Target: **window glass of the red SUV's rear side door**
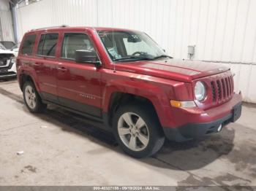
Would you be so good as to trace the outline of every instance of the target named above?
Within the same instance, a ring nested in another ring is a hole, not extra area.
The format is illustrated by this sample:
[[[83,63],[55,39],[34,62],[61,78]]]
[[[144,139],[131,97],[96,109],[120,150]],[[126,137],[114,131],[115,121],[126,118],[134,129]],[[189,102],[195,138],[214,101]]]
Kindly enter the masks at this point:
[[[55,56],[59,34],[42,34],[39,40],[37,55]]]

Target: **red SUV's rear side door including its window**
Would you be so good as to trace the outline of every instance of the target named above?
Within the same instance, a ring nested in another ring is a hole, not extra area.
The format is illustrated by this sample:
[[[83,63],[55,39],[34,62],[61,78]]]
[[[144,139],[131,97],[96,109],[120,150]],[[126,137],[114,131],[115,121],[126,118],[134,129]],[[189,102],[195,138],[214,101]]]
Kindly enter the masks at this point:
[[[37,73],[37,81],[42,98],[57,102],[56,49],[58,47],[59,33],[47,33],[39,36],[36,55],[31,59],[31,65]]]

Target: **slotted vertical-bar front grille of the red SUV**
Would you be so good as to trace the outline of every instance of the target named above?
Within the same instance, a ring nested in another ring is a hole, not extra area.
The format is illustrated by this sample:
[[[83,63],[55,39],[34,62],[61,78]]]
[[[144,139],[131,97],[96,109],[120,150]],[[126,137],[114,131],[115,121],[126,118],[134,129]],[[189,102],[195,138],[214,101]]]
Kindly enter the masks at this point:
[[[233,95],[233,76],[220,77],[211,81],[212,101],[222,102]]]

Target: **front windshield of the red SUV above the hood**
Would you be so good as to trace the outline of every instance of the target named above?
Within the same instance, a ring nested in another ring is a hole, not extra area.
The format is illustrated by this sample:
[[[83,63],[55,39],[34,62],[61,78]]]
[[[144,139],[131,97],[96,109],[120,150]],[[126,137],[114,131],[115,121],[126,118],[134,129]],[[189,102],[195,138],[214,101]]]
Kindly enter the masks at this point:
[[[97,32],[113,61],[169,57],[147,34],[135,31]]]

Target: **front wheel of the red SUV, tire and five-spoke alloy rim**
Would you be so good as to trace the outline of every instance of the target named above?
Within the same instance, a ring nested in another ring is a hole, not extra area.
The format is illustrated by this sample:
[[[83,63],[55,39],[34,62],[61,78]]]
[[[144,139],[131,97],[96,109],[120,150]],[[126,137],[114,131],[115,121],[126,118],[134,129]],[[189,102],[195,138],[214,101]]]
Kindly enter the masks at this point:
[[[140,103],[119,107],[113,119],[113,133],[124,152],[136,158],[156,154],[165,142],[156,112]]]

